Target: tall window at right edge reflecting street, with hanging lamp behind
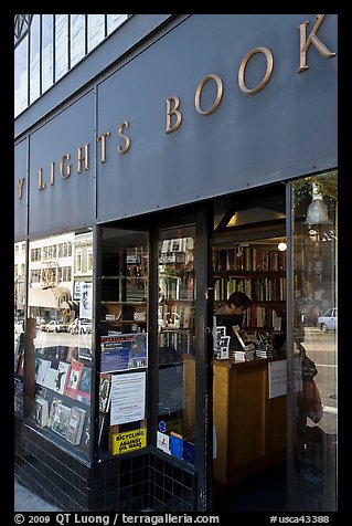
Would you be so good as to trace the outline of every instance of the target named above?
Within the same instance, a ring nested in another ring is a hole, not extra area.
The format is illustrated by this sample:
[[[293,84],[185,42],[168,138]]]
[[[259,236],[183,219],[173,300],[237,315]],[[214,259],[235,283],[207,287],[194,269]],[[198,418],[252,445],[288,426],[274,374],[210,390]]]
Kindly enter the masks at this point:
[[[337,511],[338,171],[291,183],[292,401],[290,508]]]

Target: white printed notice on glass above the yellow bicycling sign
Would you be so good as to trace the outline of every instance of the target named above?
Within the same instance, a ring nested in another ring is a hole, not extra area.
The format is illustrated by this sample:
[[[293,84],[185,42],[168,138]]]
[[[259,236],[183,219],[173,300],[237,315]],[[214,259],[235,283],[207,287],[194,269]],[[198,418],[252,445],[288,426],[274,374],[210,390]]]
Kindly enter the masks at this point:
[[[146,371],[111,375],[110,425],[146,415]]]

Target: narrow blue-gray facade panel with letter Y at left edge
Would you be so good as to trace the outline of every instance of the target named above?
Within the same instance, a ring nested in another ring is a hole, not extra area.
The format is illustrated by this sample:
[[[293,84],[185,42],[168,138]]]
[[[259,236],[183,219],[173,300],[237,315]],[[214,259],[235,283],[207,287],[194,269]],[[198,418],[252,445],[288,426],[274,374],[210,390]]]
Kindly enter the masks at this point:
[[[14,147],[14,241],[23,241],[26,235],[26,156],[28,139],[24,139]],[[19,199],[19,180],[22,178],[24,178],[22,198]]]

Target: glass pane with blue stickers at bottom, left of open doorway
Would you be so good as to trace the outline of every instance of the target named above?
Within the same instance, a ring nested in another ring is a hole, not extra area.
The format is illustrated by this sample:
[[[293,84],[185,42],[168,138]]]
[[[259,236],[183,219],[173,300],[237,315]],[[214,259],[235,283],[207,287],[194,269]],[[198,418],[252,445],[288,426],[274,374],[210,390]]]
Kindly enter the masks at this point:
[[[157,446],[194,464],[195,228],[159,231]]]

